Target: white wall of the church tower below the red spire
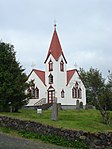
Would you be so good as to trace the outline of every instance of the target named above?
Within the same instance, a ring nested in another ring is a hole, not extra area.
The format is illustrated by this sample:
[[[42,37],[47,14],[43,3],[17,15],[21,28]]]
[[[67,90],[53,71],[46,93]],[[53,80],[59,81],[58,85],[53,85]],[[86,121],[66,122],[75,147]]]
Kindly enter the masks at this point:
[[[49,61],[50,59],[53,62],[53,71],[49,71]],[[60,62],[61,60],[63,60],[64,62],[64,72],[60,71]],[[62,89],[65,92],[65,88],[66,88],[66,80],[67,80],[67,75],[66,75],[66,63],[63,59],[63,56],[61,55],[59,60],[56,61],[54,59],[54,57],[52,55],[49,56],[46,64],[46,73],[45,73],[45,80],[46,80],[46,85],[47,85],[47,89],[49,88],[50,84],[49,84],[49,75],[50,73],[53,75],[53,84],[52,86],[55,89],[55,97],[57,97],[57,102],[61,101],[61,91]],[[62,98],[63,100],[63,98]]]

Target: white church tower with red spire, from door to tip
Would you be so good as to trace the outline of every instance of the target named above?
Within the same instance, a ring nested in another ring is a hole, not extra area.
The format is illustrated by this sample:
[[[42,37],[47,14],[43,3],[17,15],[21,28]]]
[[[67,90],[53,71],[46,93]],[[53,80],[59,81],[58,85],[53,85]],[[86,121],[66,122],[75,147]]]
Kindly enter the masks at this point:
[[[45,60],[45,82],[47,86],[47,99],[48,102],[53,102],[55,98],[58,100],[65,98],[66,88],[66,64],[67,61],[62,51],[62,47],[54,25],[54,33]]]

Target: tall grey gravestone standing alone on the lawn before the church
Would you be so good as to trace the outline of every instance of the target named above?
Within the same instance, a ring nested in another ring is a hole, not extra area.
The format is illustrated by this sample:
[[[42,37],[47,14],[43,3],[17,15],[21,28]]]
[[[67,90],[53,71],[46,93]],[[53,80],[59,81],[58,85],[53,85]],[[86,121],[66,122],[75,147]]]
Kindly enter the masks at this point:
[[[56,99],[54,100],[52,105],[51,120],[52,121],[58,120],[58,104]]]

